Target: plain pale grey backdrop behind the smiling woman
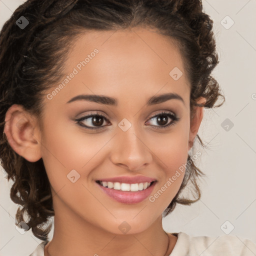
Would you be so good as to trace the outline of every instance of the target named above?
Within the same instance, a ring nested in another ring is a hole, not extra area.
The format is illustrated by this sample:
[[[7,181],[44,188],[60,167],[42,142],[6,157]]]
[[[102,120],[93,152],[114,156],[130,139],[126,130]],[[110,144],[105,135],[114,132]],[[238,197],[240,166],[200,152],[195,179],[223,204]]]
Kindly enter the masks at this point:
[[[0,27],[22,2],[0,0]],[[191,206],[177,204],[163,218],[163,227],[194,236],[228,233],[237,242],[241,237],[256,242],[256,1],[202,2],[214,21],[220,63],[213,76],[226,102],[204,110],[198,132],[209,148],[197,146],[202,155],[196,163],[207,175],[200,183],[201,199]],[[12,183],[4,176],[0,169],[0,255],[29,255],[41,240],[31,230],[21,234],[15,229],[17,206],[9,198]]]

